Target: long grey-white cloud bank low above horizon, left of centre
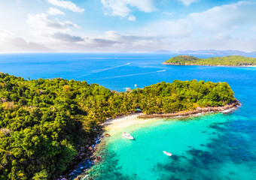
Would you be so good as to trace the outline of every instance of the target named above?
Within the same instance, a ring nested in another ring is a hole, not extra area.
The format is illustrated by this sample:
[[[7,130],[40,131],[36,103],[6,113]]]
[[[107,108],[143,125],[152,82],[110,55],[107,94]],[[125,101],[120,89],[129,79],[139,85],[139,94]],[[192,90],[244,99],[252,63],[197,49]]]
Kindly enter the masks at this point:
[[[106,31],[105,35],[99,37],[80,37],[68,33],[53,34],[53,38],[61,40],[57,48],[69,49],[73,51],[138,51],[152,48],[157,39],[148,36],[136,36],[130,34],[118,34],[116,31]]]

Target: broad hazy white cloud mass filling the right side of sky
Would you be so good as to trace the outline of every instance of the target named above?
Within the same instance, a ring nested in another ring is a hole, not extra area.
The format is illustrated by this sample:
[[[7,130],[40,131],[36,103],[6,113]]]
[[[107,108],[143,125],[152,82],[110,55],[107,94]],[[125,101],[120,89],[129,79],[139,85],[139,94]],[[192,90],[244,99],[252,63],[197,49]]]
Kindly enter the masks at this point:
[[[255,46],[252,45],[255,42],[251,37],[254,37],[256,25],[255,9],[255,1],[239,1],[200,13],[190,13],[178,20],[157,20],[137,33],[155,37],[154,41],[159,42],[155,43],[155,47],[161,49],[254,51]]]

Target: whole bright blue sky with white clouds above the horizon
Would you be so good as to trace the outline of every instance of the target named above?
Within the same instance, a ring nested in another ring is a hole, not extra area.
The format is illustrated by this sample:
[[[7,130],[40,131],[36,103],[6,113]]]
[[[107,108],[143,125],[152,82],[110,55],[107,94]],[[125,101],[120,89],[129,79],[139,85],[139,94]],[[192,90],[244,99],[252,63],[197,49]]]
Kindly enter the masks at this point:
[[[256,0],[0,0],[0,52],[256,51]]]

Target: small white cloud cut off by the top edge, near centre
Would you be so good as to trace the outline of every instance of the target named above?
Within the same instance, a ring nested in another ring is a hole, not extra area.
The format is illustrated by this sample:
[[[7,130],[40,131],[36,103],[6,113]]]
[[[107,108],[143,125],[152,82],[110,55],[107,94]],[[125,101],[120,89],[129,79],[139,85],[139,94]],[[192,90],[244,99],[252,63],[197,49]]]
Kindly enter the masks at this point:
[[[154,0],[101,0],[105,15],[127,17],[128,20],[136,20],[131,14],[131,7],[136,7],[145,13],[155,10]]]

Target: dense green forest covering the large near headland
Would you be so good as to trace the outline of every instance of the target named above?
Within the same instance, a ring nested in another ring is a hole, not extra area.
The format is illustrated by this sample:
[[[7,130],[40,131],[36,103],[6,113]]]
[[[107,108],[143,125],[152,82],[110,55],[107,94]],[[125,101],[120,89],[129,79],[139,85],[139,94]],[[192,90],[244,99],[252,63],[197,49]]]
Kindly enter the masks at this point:
[[[106,118],[174,113],[233,101],[227,83],[157,83],[111,92],[85,81],[24,80],[0,74],[0,179],[53,179]]]

